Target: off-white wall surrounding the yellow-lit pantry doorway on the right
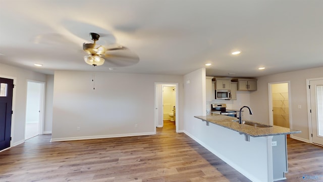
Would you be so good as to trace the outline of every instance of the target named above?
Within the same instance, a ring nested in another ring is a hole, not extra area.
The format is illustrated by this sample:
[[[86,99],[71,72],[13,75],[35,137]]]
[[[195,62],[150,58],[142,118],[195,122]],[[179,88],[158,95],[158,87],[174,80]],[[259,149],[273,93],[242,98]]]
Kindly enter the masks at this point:
[[[323,76],[323,67],[292,71],[268,76],[258,77],[257,90],[250,92],[250,106],[253,109],[251,119],[254,121],[269,123],[268,109],[268,83],[290,81],[291,88],[291,128],[301,130],[299,134],[294,134],[303,141],[309,141],[308,120],[307,120],[307,96],[306,79]],[[298,105],[301,108],[298,108]]]

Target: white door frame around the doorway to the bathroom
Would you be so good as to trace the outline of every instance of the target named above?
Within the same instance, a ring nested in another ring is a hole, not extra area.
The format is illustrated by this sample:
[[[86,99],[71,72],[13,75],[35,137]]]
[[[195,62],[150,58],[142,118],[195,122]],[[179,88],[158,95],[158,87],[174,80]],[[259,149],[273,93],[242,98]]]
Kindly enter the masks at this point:
[[[158,85],[160,85],[160,88],[158,88]],[[154,114],[155,114],[155,119],[154,119],[154,133],[156,134],[156,127],[158,125],[158,119],[160,118],[159,113],[163,114],[163,86],[174,86],[176,89],[176,103],[175,103],[175,108],[176,108],[176,115],[175,115],[175,125],[176,125],[176,132],[179,132],[179,90],[178,90],[178,83],[164,83],[164,82],[155,82],[155,108],[154,108]],[[158,108],[161,108],[159,110]],[[163,120],[163,117],[161,117]]]

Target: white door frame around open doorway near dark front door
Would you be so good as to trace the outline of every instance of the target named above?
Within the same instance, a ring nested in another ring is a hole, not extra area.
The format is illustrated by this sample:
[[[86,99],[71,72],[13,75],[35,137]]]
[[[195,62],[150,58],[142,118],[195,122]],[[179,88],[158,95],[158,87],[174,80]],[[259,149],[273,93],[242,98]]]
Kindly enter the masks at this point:
[[[43,81],[36,81],[36,80],[30,80],[27,79],[27,91],[26,91],[26,110],[27,110],[27,96],[28,96],[28,82],[34,82],[34,83],[40,83],[41,84],[41,88],[40,88],[40,96],[39,96],[39,109],[40,109],[40,113],[39,113],[39,124],[38,124],[38,131],[39,134],[43,134],[44,133],[44,117],[45,117],[45,88],[46,88],[46,82]],[[27,112],[27,111],[25,111]],[[25,113],[27,114],[27,113]],[[25,118],[25,130],[24,133],[26,133],[26,118]]]

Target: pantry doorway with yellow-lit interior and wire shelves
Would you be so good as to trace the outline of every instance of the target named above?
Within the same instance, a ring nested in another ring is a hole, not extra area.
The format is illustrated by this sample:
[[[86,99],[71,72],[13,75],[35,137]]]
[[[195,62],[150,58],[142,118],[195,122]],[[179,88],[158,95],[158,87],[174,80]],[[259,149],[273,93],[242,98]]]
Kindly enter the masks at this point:
[[[269,83],[270,124],[290,128],[289,82]]]

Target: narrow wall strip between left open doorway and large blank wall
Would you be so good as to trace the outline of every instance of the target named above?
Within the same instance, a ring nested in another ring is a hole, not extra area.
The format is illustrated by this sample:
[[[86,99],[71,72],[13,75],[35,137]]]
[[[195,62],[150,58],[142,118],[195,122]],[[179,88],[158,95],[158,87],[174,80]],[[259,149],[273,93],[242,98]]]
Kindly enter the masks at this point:
[[[44,133],[51,133],[54,75],[46,75]]]

